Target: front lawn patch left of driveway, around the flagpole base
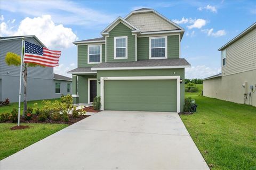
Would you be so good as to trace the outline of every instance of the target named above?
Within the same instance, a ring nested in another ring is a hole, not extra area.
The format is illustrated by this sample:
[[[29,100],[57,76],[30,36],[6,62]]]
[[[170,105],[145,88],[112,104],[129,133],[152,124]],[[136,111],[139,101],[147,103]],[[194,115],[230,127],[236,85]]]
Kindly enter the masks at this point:
[[[0,123],[0,160],[26,148],[45,137],[66,128],[67,124],[22,124],[29,129],[10,130],[17,124]]]

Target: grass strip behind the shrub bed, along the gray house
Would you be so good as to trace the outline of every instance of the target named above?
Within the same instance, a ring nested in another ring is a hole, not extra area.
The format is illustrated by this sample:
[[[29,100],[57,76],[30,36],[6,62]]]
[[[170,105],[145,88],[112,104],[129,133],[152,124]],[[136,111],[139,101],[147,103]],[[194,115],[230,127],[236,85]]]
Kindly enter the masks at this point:
[[[60,98],[57,98],[57,99],[45,99],[45,100],[50,100],[50,101],[55,101],[55,100],[60,100]],[[32,107],[32,108],[34,108],[34,103],[37,103],[38,105],[37,105],[37,107],[38,108],[41,108],[42,106],[43,106],[43,104],[42,104],[42,101],[43,100],[33,100],[33,101],[28,101],[27,102],[27,107]],[[21,110],[21,114],[22,114],[22,112],[23,112],[23,102],[21,102],[21,104],[20,104],[20,110]],[[13,107],[15,107],[15,108],[17,108],[18,109],[18,107],[19,107],[19,103],[17,102],[17,103],[11,103],[10,105],[8,105],[8,106],[2,106],[2,107],[0,107],[0,114],[1,113],[6,113],[6,112],[11,112],[11,109],[13,108]]]

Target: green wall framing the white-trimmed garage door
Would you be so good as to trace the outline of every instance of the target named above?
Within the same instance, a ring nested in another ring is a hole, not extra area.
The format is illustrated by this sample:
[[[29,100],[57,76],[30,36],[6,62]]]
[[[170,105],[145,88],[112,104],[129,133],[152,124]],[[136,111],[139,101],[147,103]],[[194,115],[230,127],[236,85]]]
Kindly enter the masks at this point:
[[[173,74],[175,72],[175,74]],[[174,76],[179,75],[185,79],[185,69],[154,69],[154,70],[109,70],[97,71],[97,80],[101,77],[134,77],[134,76]],[[97,83],[97,96],[100,96],[100,84]],[[180,84],[180,109],[183,110],[185,97],[185,84]]]

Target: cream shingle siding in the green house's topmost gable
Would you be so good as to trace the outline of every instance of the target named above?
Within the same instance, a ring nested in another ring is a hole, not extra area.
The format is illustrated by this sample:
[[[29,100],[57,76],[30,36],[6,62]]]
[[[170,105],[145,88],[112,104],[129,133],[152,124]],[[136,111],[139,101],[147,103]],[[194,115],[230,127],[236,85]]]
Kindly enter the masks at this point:
[[[141,25],[141,19],[145,20],[145,25]],[[175,27],[173,24],[165,21],[154,13],[133,14],[127,19],[127,21],[140,29],[141,32],[177,29],[177,27]]]

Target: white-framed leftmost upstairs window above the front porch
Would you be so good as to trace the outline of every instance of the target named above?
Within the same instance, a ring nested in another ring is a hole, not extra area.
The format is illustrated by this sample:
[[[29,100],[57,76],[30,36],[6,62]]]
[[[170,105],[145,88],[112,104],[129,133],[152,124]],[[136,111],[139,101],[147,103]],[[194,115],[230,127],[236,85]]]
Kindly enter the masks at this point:
[[[101,45],[88,46],[88,64],[101,63]]]

